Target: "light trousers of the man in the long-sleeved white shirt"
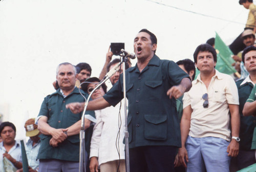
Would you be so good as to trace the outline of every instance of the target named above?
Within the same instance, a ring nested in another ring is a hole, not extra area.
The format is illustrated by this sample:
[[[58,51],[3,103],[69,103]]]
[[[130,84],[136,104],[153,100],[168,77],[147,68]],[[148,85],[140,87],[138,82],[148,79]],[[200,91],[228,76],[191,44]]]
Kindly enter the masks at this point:
[[[119,160],[109,161],[100,164],[100,172],[116,172],[118,164]],[[120,160],[118,172],[125,172],[125,160]]]

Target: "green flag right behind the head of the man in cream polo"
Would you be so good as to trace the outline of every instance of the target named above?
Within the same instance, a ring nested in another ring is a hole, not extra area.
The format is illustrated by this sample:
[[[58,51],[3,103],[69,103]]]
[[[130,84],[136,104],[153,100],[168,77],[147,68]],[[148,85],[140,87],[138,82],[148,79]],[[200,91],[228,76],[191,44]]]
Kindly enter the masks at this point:
[[[223,40],[220,38],[218,33],[216,32],[215,37],[215,49],[217,52],[217,63],[216,63],[216,69],[225,74],[233,74],[236,73],[236,69],[232,67],[232,63],[235,62],[232,58],[233,53],[231,50],[225,45]]]

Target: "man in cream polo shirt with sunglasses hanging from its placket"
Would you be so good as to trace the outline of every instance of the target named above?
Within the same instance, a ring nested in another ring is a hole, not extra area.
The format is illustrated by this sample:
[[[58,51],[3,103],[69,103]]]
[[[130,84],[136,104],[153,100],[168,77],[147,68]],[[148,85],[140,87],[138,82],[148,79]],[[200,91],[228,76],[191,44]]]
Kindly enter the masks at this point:
[[[183,97],[179,161],[188,172],[229,171],[230,157],[239,152],[238,89],[231,76],[215,69],[210,45],[198,46],[194,60],[200,74]]]

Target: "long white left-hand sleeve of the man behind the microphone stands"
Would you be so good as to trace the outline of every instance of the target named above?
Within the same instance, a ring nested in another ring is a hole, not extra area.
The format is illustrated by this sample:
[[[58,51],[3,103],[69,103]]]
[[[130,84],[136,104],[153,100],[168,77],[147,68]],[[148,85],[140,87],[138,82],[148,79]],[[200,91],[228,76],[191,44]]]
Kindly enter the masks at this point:
[[[96,111],[95,115],[96,115],[97,121],[93,128],[93,135],[92,135],[91,147],[90,147],[90,158],[98,157],[100,137],[101,137],[101,132],[102,132],[102,128],[103,128],[101,111]]]

